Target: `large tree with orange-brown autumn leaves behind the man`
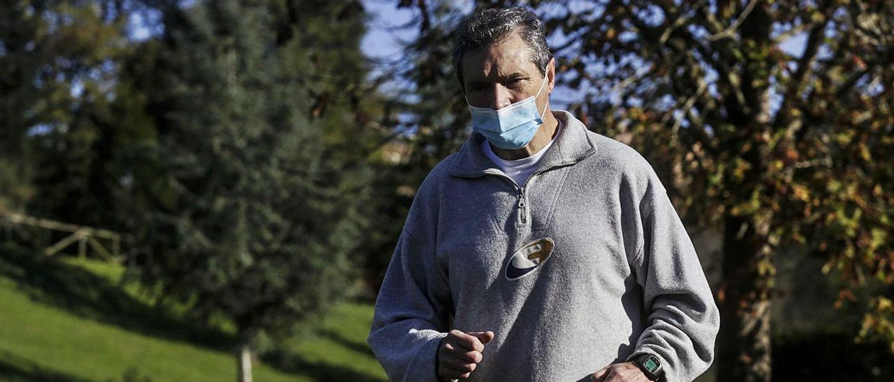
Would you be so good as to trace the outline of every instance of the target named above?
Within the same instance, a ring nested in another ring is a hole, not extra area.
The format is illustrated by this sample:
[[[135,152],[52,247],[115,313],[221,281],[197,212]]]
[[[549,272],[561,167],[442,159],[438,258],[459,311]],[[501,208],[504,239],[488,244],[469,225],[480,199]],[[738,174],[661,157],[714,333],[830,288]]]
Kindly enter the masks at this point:
[[[827,256],[851,281],[842,298],[875,291],[860,334],[894,346],[890,2],[526,4],[558,41],[560,84],[582,94],[572,112],[645,154],[688,222],[722,227],[719,380],[771,378],[780,245]],[[420,41],[453,28],[417,8]],[[780,47],[793,37],[800,54]]]

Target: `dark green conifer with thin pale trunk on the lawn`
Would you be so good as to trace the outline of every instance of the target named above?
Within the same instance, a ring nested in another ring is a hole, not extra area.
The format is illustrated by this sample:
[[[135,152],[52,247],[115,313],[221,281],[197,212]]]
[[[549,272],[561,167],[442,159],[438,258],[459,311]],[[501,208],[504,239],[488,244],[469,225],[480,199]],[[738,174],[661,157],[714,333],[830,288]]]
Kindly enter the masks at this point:
[[[164,7],[132,264],[198,320],[232,322],[243,381],[265,338],[350,291],[369,174],[346,161],[367,133],[338,92],[364,78],[362,16],[314,1]]]

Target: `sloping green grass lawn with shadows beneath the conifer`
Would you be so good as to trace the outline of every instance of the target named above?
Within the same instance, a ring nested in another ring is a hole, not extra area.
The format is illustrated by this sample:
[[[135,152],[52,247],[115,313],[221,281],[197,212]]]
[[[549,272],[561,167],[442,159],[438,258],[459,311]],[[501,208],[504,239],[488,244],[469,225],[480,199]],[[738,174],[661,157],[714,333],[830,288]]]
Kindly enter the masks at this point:
[[[137,286],[119,286],[122,272],[0,245],[0,380],[235,380],[229,335],[153,307]],[[370,304],[337,306],[257,361],[255,380],[385,380],[365,342],[371,320]]]

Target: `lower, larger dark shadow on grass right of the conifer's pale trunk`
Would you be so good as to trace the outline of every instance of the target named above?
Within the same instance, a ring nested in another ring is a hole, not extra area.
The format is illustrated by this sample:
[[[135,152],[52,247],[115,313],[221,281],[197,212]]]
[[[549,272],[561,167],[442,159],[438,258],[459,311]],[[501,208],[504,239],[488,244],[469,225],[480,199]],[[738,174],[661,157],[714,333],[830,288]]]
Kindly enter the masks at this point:
[[[308,376],[318,381],[383,382],[382,379],[356,370],[326,363],[308,362],[301,358],[300,355],[291,352],[273,351],[262,355],[260,358],[266,365],[276,370]]]

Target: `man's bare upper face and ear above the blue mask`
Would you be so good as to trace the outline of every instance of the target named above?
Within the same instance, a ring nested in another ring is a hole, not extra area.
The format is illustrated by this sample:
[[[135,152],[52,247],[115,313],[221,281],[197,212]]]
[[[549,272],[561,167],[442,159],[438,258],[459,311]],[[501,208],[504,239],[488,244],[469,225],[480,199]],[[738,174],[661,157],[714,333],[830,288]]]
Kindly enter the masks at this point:
[[[552,92],[553,67],[547,66],[547,79],[530,58],[530,48],[518,33],[484,48],[468,51],[462,57],[463,86],[468,104],[502,109],[537,94],[537,109],[543,110]],[[547,81],[544,84],[544,80]]]

